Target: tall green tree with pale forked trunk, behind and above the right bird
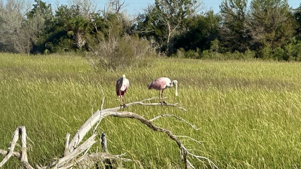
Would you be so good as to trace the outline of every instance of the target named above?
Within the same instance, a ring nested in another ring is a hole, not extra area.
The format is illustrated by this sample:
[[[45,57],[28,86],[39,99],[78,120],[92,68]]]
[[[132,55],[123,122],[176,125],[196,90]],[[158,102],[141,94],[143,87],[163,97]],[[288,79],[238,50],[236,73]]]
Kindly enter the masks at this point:
[[[174,37],[182,33],[187,19],[199,6],[195,0],[155,0],[155,5],[146,9],[145,18],[140,19],[140,36],[154,37],[161,45],[161,52],[171,54]]]

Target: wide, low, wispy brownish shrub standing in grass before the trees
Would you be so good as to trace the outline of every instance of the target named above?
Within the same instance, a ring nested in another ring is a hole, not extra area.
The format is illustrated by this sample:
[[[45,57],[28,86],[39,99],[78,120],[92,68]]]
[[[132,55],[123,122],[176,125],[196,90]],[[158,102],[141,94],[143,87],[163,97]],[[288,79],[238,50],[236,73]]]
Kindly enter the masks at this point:
[[[124,36],[115,44],[111,41],[101,41],[90,46],[87,57],[96,69],[117,70],[149,64],[145,62],[152,53],[147,40],[137,36]]]

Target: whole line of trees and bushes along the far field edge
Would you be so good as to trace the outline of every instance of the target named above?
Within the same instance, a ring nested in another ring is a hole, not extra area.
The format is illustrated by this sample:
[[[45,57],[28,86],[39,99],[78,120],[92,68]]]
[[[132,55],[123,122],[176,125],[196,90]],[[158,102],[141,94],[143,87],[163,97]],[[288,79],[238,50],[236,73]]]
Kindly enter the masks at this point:
[[[287,0],[223,0],[218,13],[202,8],[198,0],[155,0],[131,17],[120,0],[109,0],[102,10],[92,0],[72,0],[55,10],[42,0],[1,0],[0,50],[86,52],[103,65],[119,60],[117,55],[134,54],[133,61],[151,51],[200,59],[301,60],[301,4],[294,9]]]

